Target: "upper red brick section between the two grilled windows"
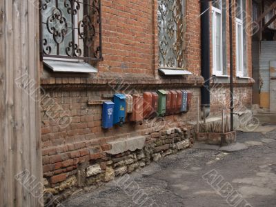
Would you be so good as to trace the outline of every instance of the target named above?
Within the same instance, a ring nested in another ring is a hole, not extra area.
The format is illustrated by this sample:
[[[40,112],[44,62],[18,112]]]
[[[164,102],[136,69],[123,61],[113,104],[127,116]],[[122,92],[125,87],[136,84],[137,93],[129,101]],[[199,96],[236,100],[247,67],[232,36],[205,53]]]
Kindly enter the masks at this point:
[[[101,2],[104,61],[99,72],[152,74],[152,1]]]

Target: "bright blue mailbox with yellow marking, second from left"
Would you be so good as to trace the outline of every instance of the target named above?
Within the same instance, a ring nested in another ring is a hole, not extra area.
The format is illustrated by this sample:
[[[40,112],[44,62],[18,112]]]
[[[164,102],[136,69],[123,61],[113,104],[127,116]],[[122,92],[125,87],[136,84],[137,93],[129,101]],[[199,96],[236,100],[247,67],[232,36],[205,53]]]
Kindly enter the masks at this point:
[[[114,95],[114,119],[113,124],[119,124],[120,126],[126,121],[126,95],[115,94]]]

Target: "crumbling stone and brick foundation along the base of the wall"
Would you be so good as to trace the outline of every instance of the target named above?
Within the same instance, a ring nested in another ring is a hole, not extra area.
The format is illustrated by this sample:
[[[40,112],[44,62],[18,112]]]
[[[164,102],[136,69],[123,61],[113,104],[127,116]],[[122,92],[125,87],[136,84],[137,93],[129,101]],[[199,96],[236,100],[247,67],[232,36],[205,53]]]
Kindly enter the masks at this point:
[[[135,149],[132,146],[129,149],[125,148],[124,144],[128,139],[121,139],[117,141],[117,150],[118,143],[121,143],[123,145],[121,150],[127,151],[115,155],[115,150],[112,150],[114,143],[106,144],[99,152],[92,146],[85,150],[81,149],[81,152],[69,152],[68,156],[72,157],[72,163],[71,161],[67,161],[68,164],[63,161],[60,164],[58,162],[55,164],[57,167],[61,166],[58,171],[44,173],[45,202],[47,203],[47,199],[51,196],[57,196],[55,202],[59,202],[78,189],[99,186],[104,182],[112,181],[115,177],[143,168],[151,161],[158,161],[179,150],[190,148],[193,146],[194,132],[193,126],[151,132],[137,138],[145,140],[144,147],[141,149]],[[136,143],[137,139],[134,139]],[[81,154],[83,156],[78,157]],[[75,164],[77,161],[79,161],[78,164]],[[55,175],[57,172],[59,174]]]

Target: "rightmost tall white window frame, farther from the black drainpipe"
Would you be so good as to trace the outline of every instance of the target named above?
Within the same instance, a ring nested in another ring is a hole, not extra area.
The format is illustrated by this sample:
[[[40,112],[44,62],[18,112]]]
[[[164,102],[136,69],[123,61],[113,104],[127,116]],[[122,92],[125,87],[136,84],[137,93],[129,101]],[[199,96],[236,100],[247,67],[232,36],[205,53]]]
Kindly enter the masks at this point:
[[[242,19],[239,19],[239,18],[235,18],[235,31],[236,31],[236,74],[237,74],[237,77],[244,77],[244,8],[243,8],[243,2],[244,0],[241,0],[241,10],[242,10]],[[241,32],[240,32],[240,36],[238,37],[238,28],[239,26],[241,26]],[[237,42],[238,40],[240,39],[240,43],[241,43],[241,48],[242,50],[239,51],[239,54],[238,54],[238,50],[237,50]],[[241,61],[241,65],[242,65],[242,68],[239,68],[239,61]]]

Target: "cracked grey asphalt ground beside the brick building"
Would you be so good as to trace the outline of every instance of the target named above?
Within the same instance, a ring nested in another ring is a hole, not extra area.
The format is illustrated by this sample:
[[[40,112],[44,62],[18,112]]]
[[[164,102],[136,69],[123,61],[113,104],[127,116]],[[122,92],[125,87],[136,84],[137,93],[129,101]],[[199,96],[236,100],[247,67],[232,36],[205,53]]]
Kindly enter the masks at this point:
[[[72,195],[63,206],[276,206],[276,132],[239,132],[248,148],[190,148],[99,188]]]

